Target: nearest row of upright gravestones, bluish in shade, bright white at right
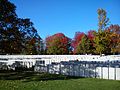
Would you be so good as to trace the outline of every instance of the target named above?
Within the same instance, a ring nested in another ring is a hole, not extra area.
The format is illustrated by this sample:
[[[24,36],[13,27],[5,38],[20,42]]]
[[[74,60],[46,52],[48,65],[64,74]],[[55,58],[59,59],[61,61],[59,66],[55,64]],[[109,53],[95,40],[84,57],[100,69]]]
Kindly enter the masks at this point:
[[[54,74],[120,80],[120,62],[63,61],[43,68]]]

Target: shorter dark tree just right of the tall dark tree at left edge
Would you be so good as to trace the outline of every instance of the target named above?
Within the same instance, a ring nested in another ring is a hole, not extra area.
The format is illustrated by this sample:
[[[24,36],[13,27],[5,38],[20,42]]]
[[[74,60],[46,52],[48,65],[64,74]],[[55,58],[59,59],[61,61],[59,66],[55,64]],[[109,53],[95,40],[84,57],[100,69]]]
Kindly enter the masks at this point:
[[[41,38],[30,19],[18,19],[18,28],[22,37],[24,54],[40,54]]]

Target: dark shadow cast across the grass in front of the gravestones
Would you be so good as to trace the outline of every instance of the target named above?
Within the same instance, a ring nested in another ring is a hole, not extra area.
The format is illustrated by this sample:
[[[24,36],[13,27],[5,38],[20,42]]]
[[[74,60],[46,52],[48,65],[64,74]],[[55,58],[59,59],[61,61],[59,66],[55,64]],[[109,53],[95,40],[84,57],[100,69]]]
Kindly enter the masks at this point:
[[[66,76],[61,74],[48,74],[33,71],[4,71],[0,72],[0,80],[22,80],[23,82],[30,81],[48,81],[48,80],[68,80],[79,79],[84,77]]]

